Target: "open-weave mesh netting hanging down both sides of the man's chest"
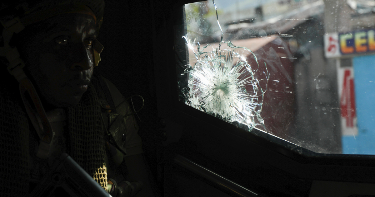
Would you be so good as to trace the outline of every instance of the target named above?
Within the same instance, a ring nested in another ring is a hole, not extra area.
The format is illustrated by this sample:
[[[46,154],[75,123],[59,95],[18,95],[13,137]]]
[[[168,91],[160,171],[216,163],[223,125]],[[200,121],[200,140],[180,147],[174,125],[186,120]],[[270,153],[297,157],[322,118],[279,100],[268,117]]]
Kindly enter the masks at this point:
[[[66,114],[69,154],[107,190],[101,109],[93,85],[89,85],[80,103],[69,107]],[[0,91],[0,196],[18,197],[28,192],[30,131],[27,119],[20,102],[12,94]]]

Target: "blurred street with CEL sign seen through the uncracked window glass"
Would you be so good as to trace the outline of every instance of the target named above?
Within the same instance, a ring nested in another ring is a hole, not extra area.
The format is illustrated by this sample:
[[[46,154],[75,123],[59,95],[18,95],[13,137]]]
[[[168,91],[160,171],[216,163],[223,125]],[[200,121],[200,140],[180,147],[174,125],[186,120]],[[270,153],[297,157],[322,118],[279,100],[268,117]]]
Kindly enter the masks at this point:
[[[236,49],[266,79],[256,128],[317,153],[375,154],[374,1],[214,2],[218,20],[213,1],[185,5],[187,33],[203,51],[229,49],[223,32],[253,52]]]

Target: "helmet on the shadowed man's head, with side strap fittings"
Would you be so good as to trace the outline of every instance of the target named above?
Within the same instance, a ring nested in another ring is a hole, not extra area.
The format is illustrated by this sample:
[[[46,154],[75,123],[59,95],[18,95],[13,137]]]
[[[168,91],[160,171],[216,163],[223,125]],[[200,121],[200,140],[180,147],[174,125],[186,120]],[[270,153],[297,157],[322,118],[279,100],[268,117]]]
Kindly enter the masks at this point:
[[[16,0],[7,4],[0,4],[0,22],[3,25],[0,35],[0,57],[6,57],[9,65],[8,71],[18,81],[26,78],[22,68],[25,66],[20,59],[16,47],[9,46],[9,41],[14,33],[22,31],[25,26],[42,21],[62,13],[87,13],[96,19],[96,29],[99,31],[103,22],[103,0]],[[95,66],[100,61],[103,46],[96,41],[93,43]]]

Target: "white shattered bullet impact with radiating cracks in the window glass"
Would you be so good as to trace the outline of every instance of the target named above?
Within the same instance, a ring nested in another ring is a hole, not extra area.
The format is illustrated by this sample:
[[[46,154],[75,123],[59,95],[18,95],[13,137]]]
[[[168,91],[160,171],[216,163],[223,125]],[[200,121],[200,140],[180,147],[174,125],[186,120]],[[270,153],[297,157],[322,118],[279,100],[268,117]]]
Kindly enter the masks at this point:
[[[268,133],[261,117],[264,93],[270,76],[267,65],[264,65],[267,73],[263,71],[265,78],[258,80],[255,77],[260,66],[257,57],[245,47],[223,41],[224,33],[214,0],[213,4],[221,31],[219,47],[215,49],[210,44],[201,47],[199,42],[190,39],[189,33],[183,36],[196,59],[196,63],[186,65],[187,68],[181,74],[188,75],[188,88],[183,91],[185,103],[223,121],[247,125],[249,131],[260,125]],[[222,43],[227,45],[227,49],[220,49]],[[212,51],[204,51],[208,46],[212,47]],[[247,56],[255,59],[256,69],[248,63]],[[265,87],[261,87],[261,80],[266,80],[263,83]]]

